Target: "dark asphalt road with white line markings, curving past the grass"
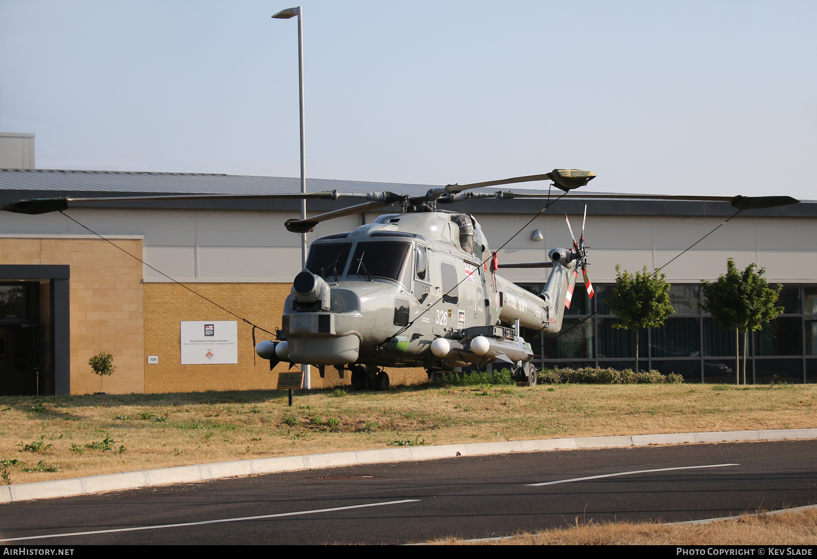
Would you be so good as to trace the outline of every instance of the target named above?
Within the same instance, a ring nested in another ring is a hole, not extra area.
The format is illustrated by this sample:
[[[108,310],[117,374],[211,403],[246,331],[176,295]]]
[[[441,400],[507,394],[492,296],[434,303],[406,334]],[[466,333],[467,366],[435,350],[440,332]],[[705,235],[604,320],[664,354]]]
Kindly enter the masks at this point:
[[[412,543],[812,503],[817,440],[742,442],[462,456],[23,501],[0,508],[0,537],[60,547]]]

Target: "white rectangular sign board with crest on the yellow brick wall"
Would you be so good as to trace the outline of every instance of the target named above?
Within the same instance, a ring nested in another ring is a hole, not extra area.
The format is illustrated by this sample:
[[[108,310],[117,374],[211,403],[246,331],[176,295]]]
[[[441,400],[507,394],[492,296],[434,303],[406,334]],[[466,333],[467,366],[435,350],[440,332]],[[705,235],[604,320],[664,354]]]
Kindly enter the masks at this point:
[[[239,324],[235,320],[181,323],[181,364],[239,362]]]

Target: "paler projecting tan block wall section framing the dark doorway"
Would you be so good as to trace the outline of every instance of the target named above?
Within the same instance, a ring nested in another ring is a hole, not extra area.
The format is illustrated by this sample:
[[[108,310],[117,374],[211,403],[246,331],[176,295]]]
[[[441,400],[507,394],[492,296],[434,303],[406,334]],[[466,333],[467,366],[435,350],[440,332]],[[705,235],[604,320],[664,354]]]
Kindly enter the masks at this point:
[[[142,257],[141,239],[112,239]],[[0,238],[2,264],[71,266],[71,392],[99,390],[88,359],[99,351],[114,356],[116,372],[105,391],[145,391],[142,265],[102,239]]]

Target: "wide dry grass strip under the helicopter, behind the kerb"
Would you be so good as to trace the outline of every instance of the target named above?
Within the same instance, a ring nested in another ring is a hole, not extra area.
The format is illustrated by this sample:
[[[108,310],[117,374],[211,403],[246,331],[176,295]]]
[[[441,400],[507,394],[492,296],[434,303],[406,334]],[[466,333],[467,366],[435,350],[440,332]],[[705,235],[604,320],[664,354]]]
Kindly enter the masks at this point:
[[[297,394],[292,408],[283,391],[6,396],[0,460],[25,464],[0,465],[0,474],[23,483],[423,442],[817,427],[817,385],[409,386],[344,394]],[[40,436],[50,448],[24,450]],[[110,450],[87,448],[106,436],[115,441]],[[60,472],[23,471],[40,460]]]

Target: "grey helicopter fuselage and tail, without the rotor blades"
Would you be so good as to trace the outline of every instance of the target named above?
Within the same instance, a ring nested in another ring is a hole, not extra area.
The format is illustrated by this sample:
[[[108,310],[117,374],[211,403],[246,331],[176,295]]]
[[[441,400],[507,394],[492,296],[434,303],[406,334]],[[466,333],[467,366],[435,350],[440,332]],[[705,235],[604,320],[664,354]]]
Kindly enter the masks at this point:
[[[558,333],[574,260],[550,251],[546,288],[496,274],[476,220],[461,212],[386,214],[316,239],[284,302],[276,355],[292,363],[425,367],[533,358],[511,325]],[[503,325],[505,324],[505,325]],[[438,340],[443,340],[442,342]]]

